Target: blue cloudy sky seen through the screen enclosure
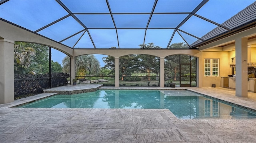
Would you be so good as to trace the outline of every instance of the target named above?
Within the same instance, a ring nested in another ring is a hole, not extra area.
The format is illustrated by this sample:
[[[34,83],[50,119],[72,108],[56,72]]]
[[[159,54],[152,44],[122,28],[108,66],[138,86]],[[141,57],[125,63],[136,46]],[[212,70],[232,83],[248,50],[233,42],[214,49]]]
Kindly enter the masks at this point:
[[[105,0],[61,0],[72,12],[107,12],[109,13]],[[222,24],[246,6],[252,4],[255,0],[209,0],[200,10],[196,12],[199,16],[203,16],[218,24]],[[132,0],[109,0],[112,13],[118,12],[151,12],[154,0],[138,0],[136,4]],[[158,0],[154,12],[191,12],[200,4],[202,0]],[[143,8],[142,8],[143,7]],[[54,12],[52,12],[54,10]],[[45,25],[68,15],[62,6],[55,0],[9,0],[0,5],[0,17],[14,24],[20,25],[31,31],[60,41],[62,44],[74,48],[94,49],[97,48],[118,47],[117,35],[120,48],[140,48],[143,44],[144,34],[145,44],[154,43],[154,45],[162,48],[168,47],[170,37],[174,29],[166,29],[166,27],[176,27],[188,14],[154,14],[148,25],[149,28],[165,28],[165,29],[93,29],[93,28],[113,28],[114,24],[109,14],[75,14],[78,19],[89,29],[89,33],[83,30],[80,25],[71,16],[50,25],[44,29],[40,29]],[[124,28],[144,28],[148,23],[150,14],[114,14],[116,27]],[[28,20],[29,19],[29,20]],[[72,25],[72,26],[71,26]],[[196,37],[202,37],[216,25],[206,22],[196,16],[192,16],[184,23],[180,30],[186,31]],[[92,28],[92,29],[91,29]],[[40,29],[40,30],[39,30]],[[180,34],[190,45],[197,39],[180,31]],[[77,35],[64,40],[66,37],[78,33]],[[82,38],[80,39],[80,37]],[[171,41],[172,43],[184,42],[182,37],[176,32]],[[78,41],[80,39],[80,41]],[[78,43],[76,43],[78,41]],[[66,55],[57,50],[52,50],[52,60],[62,63],[62,59]],[[104,66],[102,57],[107,55],[96,55],[101,67]]]

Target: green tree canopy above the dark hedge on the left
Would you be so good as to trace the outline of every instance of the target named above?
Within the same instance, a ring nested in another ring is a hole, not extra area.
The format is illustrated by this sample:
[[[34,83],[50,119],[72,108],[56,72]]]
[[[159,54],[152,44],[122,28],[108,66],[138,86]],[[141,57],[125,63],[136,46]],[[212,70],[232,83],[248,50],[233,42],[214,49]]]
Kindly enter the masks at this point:
[[[52,61],[51,68],[52,72],[62,71],[58,62]],[[49,73],[49,47],[36,43],[15,42],[14,73]]]

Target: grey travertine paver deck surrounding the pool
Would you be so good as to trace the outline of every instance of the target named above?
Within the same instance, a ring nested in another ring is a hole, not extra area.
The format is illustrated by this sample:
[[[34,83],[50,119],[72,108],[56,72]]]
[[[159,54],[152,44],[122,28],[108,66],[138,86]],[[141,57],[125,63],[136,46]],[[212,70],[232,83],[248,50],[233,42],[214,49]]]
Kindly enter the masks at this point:
[[[240,98],[227,88],[184,89],[256,108],[256,93]],[[168,109],[10,108],[54,94],[0,104],[0,143],[256,142],[256,119],[178,119]]]

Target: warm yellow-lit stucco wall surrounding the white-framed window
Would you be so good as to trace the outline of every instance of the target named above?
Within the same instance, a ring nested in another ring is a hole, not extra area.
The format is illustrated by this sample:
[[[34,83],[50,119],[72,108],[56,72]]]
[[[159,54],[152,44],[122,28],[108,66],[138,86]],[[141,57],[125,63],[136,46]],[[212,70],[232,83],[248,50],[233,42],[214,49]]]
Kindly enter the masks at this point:
[[[204,61],[199,65],[202,74],[202,87],[212,87],[215,84],[216,87],[220,87],[220,79],[222,76],[228,76],[229,71],[229,53],[228,52],[203,52],[202,60],[204,59],[220,59],[219,63],[219,76],[204,76]],[[203,68],[202,68],[203,67]]]

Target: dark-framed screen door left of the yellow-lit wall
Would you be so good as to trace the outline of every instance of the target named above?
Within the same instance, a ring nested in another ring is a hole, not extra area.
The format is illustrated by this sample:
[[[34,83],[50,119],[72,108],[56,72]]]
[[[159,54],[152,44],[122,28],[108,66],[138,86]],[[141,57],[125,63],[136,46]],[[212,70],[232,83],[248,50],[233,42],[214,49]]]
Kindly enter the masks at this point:
[[[191,64],[180,64],[180,86],[191,86]]]

